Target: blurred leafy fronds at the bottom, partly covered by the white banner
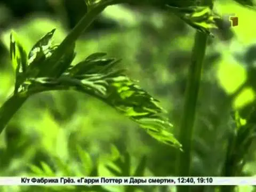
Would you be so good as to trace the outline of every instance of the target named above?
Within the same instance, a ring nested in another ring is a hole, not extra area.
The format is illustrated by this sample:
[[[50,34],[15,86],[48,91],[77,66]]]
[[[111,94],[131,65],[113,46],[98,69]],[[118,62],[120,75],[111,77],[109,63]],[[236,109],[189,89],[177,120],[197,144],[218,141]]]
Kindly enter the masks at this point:
[[[99,161],[92,161],[89,153],[84,151],[82,147],[77,146],[78,154],[78,169],[74,169],[68,162],[63,162],[60,158],[54,157],[53,162],[55,167],[49,166],[45,162],[41,162],[40,166],[29,165],[31,175],[36,177],[56,177],[60,175],[69,175],[73,177],[100,177],[99,175]],[[146,171],[146,157],[142,156],[135,170],[132,171],[131,156],[127,151],[121,153],[114,145],[111,146],[111,154],[108,155],[108,161],[104,162],[104,166],[115,177],[143,177]],[[99,159],[98,159],[99,160]],[[143,186],[125,186],[125,192],[133,192],[136,189],[143,190]],[[103,186],[38,186],[39,191],[97,191],[97,192],[110,192]],[[143,191],[148,191],[143,190]]]

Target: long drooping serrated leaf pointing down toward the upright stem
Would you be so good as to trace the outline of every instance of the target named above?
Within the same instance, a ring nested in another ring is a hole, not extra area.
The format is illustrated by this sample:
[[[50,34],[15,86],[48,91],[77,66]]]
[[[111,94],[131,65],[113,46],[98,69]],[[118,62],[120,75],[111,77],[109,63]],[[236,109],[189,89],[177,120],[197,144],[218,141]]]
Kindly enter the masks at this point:
[[[115,70],[113,66],[116,63],[113,59],[91,57],[87,62],[85,60],[69,68],[59,78],[30,78],[26,83],[30,84],[32,90],[41,85],[50,90],[75,89],[92,95],[131,118],[155,139],[181,148],[173,134],[167,131],[172,124],[163,115],[165,111],[159,106],[159,101],[123,74],[122,70]]]

